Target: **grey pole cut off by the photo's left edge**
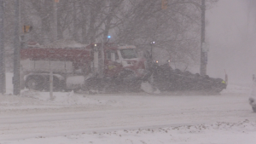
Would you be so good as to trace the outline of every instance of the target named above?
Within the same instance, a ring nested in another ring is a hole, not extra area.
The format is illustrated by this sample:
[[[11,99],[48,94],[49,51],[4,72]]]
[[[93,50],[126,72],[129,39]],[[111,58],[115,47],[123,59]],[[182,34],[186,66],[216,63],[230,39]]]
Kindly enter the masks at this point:
[[[5,62],[4,62],[4,35],[3,35],[3,19],[4,19],[4,8],[3,0],[0,0],[0,92],[5,94]]]

